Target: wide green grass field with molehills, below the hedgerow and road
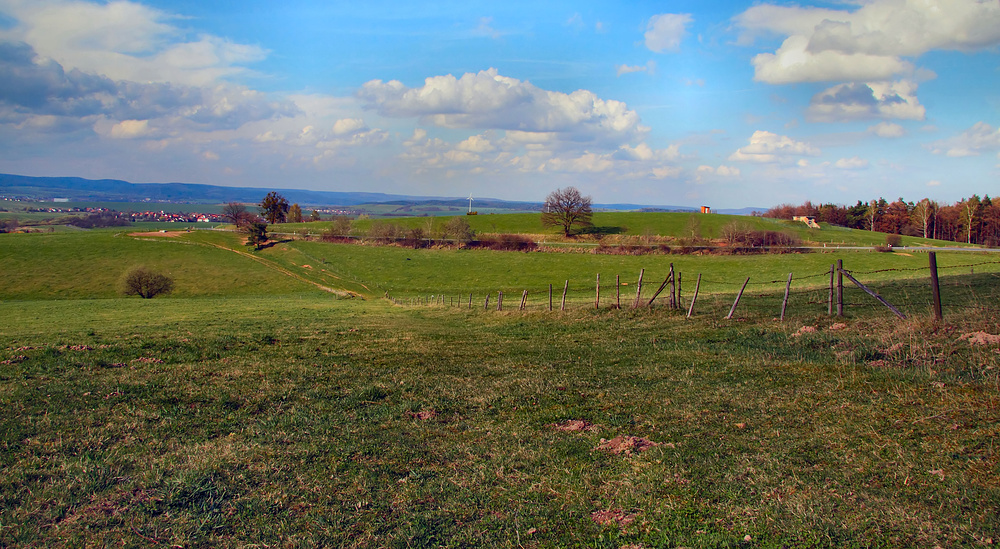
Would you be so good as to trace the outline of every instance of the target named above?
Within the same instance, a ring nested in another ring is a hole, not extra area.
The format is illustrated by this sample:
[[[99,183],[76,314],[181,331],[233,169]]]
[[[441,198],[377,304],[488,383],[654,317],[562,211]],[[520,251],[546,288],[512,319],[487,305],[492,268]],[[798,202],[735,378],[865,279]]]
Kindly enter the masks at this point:
[[[947,307],[933,323],[921,254],[0,238],[0,546],[1000,539],[1000,354],[962,339],[998,331],[1000,269],[963,266],[986,257],[938,254]],[[773,320],[788,272],[836,259],[911,318],[857,290],[846,319],[827,317],[817,277]],[[639,269],[655,287],[671,262],[686,299],[698,273],[717,281],[691,320],[592,308],[596,273],[634,292]],[[118,297],[132,264],[169,273],[175,292]],[[723,320],[746,276],[782,283]],[[481,307],[566,279],[580,289],[565,312]],[[473,292],[477,306],[393,306],[386,292]]]

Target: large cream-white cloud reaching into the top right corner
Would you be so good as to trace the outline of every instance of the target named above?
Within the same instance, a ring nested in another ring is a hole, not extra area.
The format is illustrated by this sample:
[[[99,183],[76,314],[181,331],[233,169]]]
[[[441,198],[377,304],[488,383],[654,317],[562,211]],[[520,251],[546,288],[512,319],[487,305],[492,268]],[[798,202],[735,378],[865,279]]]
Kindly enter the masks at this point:
[[[786,37],[753,58],[754,78],[772,84],[889,80],[913,73],[904,58],[1000,44],[1000,4],[978,0],[869,0],[855,11],[762,4],[735,22],[743,44]]]

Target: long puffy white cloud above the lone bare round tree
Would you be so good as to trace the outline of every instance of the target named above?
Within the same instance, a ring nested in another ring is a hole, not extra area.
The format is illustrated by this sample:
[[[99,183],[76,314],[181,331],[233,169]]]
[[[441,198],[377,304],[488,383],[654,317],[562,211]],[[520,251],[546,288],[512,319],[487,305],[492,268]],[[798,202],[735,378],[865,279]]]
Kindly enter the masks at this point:
[[[604,100],[587,90],[543,90],[496,69],[461,78],[433,76],[419,88],[397,80],[372,80],[357,97],[383,116],[419,117],[445,128],[555,132],[573,141],[605,144],[633,141],[648,131],[621,101]]]

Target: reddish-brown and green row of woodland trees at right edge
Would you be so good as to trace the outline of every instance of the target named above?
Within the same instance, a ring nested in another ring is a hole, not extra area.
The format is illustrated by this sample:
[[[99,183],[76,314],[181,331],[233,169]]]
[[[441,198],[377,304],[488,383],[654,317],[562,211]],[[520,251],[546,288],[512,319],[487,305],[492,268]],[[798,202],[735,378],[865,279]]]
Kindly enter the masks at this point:
[[[796,216],[815,217],[816,221],[888,234],[920,236],[952,242],[1000,245],[1000,198],[972,195],[953,204],[924,198],[907,202],[902,198],[889,202],[885,198],[858,201],[853,206],[813,204],[799,206],[782,204],[763,214],[775,219]]]

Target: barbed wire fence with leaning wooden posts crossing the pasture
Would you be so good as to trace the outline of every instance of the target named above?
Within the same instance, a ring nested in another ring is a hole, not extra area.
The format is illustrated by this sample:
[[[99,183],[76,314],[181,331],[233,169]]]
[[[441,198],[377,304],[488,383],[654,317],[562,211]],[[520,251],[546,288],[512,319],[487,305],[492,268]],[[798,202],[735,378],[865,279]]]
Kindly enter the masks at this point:
[[[961,314],[963,311],[1000,314],[1000,260],[936,268],[945,314]],[[845,316],[892,315],[879,298],[898,308],[904,316],[931,314],[934,300],[930,265],[873,270],[851,270],[845,266],[842,272],[864,287],[844,281],[839,293],[842,296],[840,308]],[[887,273],[903,276],[887,277]],[[727,280],[697,274],[684,276],[680,272],[673,276],[669,273],[659,273],[658,277],[648,273],[640,276],[644,278],[641,283],[638,278],[627,280],[618,275],[595,275],[589,281],[565,280],[521,289],[387,297],[400,306],[494,312],[654,309],[676,310],[684,314],[690,311],[690,316],[708,318],[727,317],[729,313],[736,319],[778,318],[783,311],[800,316],[836,315],[838,310],[838,277],[833,266],[825,272],[792,274],[790,279],[754,280],[753,276],[749,276]]]

